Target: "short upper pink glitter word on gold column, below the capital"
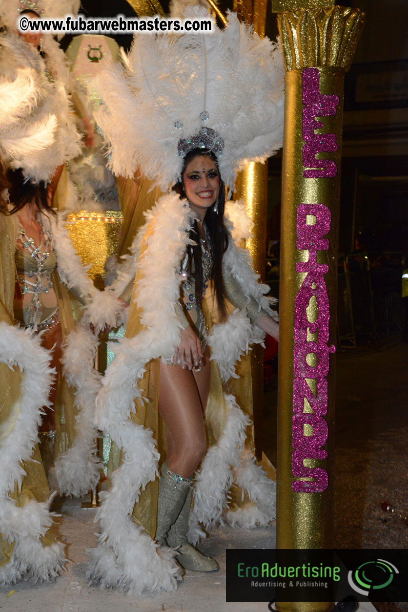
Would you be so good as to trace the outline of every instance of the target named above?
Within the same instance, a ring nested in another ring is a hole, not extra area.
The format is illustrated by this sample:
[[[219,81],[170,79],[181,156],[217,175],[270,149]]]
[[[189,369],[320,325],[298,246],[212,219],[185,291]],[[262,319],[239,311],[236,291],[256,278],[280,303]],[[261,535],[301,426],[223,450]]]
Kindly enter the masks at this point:
[[[303,166],[314,168],[305,170],[305,179],[319,179],[322,177],[336,176],[336,163],[330,159],[316,159],[316,155],[322,152],[337,151],[338,145],[335,134],[316,134],[315,130],[321,130],[322,121],[316,121],[316,117],[327,117],[336,114],[336,106],[339,103],[337,95],[324,95],[320,93],[320,75],[317,68],[305,68],[302,73],[302,136],[305,144],[303,146]]]

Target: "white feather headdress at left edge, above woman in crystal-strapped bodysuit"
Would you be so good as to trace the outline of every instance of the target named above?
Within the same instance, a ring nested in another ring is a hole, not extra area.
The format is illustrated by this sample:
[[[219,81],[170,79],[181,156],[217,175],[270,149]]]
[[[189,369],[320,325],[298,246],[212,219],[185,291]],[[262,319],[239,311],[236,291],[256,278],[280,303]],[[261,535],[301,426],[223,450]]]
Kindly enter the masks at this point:
[[[0,37],[0,52],[2,160],[31,181],[48,181],[81,151],[64,83],[48,81],[37,51],[16,35]]]

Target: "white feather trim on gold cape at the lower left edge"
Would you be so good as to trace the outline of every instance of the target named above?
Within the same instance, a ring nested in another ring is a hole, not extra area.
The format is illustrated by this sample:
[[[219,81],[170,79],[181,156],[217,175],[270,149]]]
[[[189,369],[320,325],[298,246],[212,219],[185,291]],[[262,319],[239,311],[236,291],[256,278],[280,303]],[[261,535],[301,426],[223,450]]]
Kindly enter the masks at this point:
[[[18,507],[9,491],[25,475],[22,462],[32,455],[38,441],[42,406],[48,404],[53,370],[50,356],[41,348],[40,338],[28,331],[0,323],[0,361],[23,372],[20,412],[0,449],[0,532],[15,542],[10,561],[0,567],[0,584],[14,584],[23,578],[50,580],[64,570],[64,545],[43,546],[40,537],[53,523],[48,502],[29,501]],[[50,498],[51,499],[51,498]]]

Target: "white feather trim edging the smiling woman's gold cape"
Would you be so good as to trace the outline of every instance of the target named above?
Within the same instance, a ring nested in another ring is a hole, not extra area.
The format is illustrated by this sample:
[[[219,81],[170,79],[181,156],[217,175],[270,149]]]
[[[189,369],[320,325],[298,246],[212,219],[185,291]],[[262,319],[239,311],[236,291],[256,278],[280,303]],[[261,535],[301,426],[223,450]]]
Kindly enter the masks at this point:
[[[91,560],[87,571],[91,582],[100,584],[101,588],[121,585],[134,595],[145,589],[171,590],[177,586],[178,569],[172,551],[158,547],[130,518],[141,491],[157,474],[158,452],[152,432],[134,424],[129,417],[134,411],[135,398],[141,397],[138,381],[144,374],[145,364],[158,357],[171,357],[180,341],[181,326],[174,311],[174,303],[179,297],[177,266],[189,243],[192,222],[186,201],[180,201],[179,196],[173,194],[163,196],[146,218],[146,225],[132,247],[133,256],[138,259],[146,230],[153,230],[138,260],[142,280],[136,283],[134,294],[145,329],[119,342],[116,357],[106,371],[97,398],[97,426],[121,447],[124,460],[112,475],[112,488],[103,495],[102,506],[95,517],[95,521],[100,521],[101,533],[97,548],[89,551]],[[233,244],[225,259],[227,274],[240,266],[237,280],[241,284],[248,283],[255,297],[263,297],[263,288],[259,288],[248,259]],[[127,273],[133,274],[134,270],[135,264],[129,263]],[[115,291],[120,291],[125,280],[128,277],[119,279]],[[247,291],[249,294],[250,290]],[[250,342],[254,338],[262,341],[262,333],[254,333],[252,328],[245,313],[237,311],[226,323],[212,328],[209,334],[212,359],[217,360],[224,379],[234,375],[236,361],[248,350]],[[257,466],[253,469],[253,463],[241,465],[248,419],[232,395],[226,396],[226,403],[228,417],[223,436],[209,449],[196,476],[195,506],[189,532],[193,542],[205,535],[198,523],[204,528],[214,526],[220,521],[224,507],[228,506],[231,466],[246,473],[250,465],[253,482],[241,479],[250,496],[256,487],[264,487],[265,495],[270,498],[273,489],[273,483],[265,482],[264,473]],[[273,517],[264,518],[267,524]]]

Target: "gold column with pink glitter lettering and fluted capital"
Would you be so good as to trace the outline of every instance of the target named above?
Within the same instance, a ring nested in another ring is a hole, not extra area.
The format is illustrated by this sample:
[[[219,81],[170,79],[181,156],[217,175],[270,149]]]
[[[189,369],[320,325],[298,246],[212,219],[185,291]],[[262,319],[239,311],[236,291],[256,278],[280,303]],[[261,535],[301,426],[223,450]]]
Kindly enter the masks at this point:
[[[335,357],[331,353],[336,338],[344,73],[363,24],[360,10],[333,4],[272,0],[272,10],[280,13],[286,64],[278,549],[333,547]],[[276,609],[285,612],[332,608],[333,602],[276,602]]]

